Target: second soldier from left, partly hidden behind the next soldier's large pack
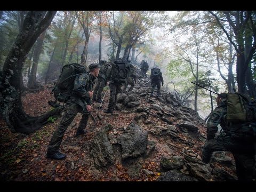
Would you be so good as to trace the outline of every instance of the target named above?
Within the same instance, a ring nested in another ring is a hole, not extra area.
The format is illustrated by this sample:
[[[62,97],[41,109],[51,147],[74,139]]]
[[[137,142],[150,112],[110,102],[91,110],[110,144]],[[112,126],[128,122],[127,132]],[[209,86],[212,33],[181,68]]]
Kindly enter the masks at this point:
[[[107,61],[105,60],[100,60],[99,64],[100,64],[99,65],[100,73],[98,77],[98,83],[93,90],[92,100],[103,103],[103,101],[101,100],[102,91],[103,91],[103,88],[106,85],[108,85],[108,82],[110,81],[111,65],[109,65],[109,63],[107,63]]]

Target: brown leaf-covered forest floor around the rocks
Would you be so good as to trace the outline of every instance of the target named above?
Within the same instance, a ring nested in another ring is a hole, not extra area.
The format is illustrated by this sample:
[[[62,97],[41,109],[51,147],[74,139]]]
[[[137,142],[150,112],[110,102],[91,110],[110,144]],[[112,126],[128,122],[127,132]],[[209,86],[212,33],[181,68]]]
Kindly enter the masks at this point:
[[[28,93],[22,97],[23,108],[27,114],[31,116],[39,116],[48,110],[49,100],[54,100],[50,94],[52,86],[44,86],[45,89],[36,93]],[[106,94],[105,101],[108,101],[109,92]],[[99,103],[97,103],[98,105]],[[93,107],[96,104],[93,104]],[[110,115],[103,113],[107,108],[108,102],[103,103],[103,107],[99,110],[93,108],[92,115],[97,113],[103,116],[102,121],[94,124],[92,118],[89,118],[87,129],[89,133],[81,137],[74,137],[81,114],[78,114],[73,123],[68,127],[60,151],[67,155],[63,161],[46,159],[45,154],[47,146],[51,140],[54,130],[60,122],[60,118],[54,121],[49,119],[49,123],[44,125],[42,129],[29,135],[22,133],[11,133],[3,119],[0,119],[0,180],[2,181],[155,181],[161,175],[160,161],[163,155],[169,154],[170,151],[165,149],[166,140],[164,138],[156,138],[148,134],[148,140],[156,142],[156,150],[154,154],[142,163],[142,169],[154,172],[153,175],[147,175],[142,170],[138,170],[138,176],[133,177],[126,165],[116,163],[114,165],[103,167],[101,170],[92,166],[89,155],[89,145],[93,138],[94,132],[106,124],[111,124],[117,132],[128,126],[134,119],[135,113],[125,113],[119,111],[118,114]],[[143,103],[147,106],[148,103]],[[157,118],[150,116],[148,119],[161,125]],[[147,130],[147,126],[140,125]],[[96,127],[96,128],[95,128]],[[201,133],[205,133],[203,127],[199,127]],[[184,143],[174,142],[169,139],[168,146],[172,148],[172,155],[180,155],[182,149],[189,147]],[[201,155],[203,142],[196,142],[193,146],[195,153]],[[233,172],[233,170],[228,170]]]

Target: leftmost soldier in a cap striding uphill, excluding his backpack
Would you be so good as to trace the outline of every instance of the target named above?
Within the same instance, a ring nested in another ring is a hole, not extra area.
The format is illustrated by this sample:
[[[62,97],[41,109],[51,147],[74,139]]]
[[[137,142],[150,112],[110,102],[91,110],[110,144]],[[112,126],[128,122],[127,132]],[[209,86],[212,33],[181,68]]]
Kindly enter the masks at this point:
[[[96,77],[98,77],[100,71],[99,65],[94,63],[89,66],[89,69],[89,74],[84,73],[76,76],[75,78],[73,91],[70,99],[66,102],[60,124],[52,135],[52,139],[47,149],[46,158],[66,158],[65,154],[60,153],[59,148],[68,125],[73,121],[77,113],[82,113],[83,116],[76,131],[76,136],[85,134],[87,132],[84,129],[91,111],[90,104],[93,95],[93,81]]]

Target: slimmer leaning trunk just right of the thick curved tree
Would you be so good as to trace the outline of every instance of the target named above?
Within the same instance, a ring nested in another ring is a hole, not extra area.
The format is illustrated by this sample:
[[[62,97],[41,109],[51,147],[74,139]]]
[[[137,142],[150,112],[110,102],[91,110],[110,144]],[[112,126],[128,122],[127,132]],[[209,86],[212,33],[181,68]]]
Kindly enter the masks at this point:
[[[39,57],[43,50],[43,42],[44,42],[45,34],[46,34],[46,30],[37,39],[34,57],[33,57],[34,58],[33,65],[31,68],[30,77],[28,79],[28,89],[37,89],[38,88],[38,84],[36,82],[36,72],[37,72]]]

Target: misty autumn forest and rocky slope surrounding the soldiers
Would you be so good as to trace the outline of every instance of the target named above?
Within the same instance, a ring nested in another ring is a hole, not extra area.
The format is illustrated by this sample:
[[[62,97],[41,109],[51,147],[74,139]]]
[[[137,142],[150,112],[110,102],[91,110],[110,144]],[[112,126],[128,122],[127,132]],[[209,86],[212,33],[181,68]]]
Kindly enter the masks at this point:
[[[230,152],[202,162],[205,121],[215,93],[256,98],[255,50],[256,11],[0,11],[0,180],[237,180]],[[64,106],[49,105],[62,67],[117,59],[134,66],[134,89],[106,114],[105,86],[87,134],[74,137],[79,113],[65,132],[67,158],[45,158]],[[155,67],[164,85],[150,97]]]

